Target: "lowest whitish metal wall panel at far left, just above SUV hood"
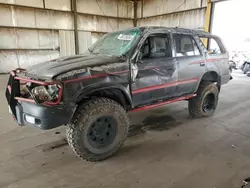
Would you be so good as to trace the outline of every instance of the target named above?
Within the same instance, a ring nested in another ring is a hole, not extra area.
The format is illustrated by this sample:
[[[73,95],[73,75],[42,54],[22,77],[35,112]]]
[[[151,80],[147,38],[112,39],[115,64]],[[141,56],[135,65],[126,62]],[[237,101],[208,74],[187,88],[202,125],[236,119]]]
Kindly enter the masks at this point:
[[[0,72],[7,73],[17,67],[27,68],[59,57],[59,51],[0,50]]]

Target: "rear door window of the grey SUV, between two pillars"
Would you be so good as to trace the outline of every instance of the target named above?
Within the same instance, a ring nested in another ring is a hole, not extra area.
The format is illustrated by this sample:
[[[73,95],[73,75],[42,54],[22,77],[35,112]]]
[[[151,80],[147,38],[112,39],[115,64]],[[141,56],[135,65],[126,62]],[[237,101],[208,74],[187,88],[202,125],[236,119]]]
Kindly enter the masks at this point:
[[[174,41],[177,57],[201,55],[193,37],[189,35],[176,34],[174,35]]]

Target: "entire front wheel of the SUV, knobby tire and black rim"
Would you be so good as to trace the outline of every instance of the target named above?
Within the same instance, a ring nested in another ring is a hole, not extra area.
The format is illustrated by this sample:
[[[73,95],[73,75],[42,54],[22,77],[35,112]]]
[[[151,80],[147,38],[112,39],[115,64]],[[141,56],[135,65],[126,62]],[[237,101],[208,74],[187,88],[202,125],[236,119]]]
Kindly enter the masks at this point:
[[[121,105],[97,98],[78,107],[66,134],[73,151],[94,162],[111,157],[123,145],[128,128],[129,120]]]

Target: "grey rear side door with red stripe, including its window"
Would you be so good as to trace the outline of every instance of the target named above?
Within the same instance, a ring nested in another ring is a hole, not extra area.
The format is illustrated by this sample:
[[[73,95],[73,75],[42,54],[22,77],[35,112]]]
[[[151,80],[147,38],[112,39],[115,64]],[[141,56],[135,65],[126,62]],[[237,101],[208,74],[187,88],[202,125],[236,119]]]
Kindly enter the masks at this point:
[[[173,34],[173,40],[178,62],[177,95],[192,94],[207,70],[204,54],[197,45],[198,38],[193,35]]]

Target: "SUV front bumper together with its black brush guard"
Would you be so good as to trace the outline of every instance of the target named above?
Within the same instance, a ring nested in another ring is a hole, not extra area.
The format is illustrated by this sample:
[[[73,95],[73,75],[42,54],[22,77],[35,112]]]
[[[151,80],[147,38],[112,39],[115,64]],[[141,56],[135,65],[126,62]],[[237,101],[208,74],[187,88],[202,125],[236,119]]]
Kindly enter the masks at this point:
[[[25,80],[46,84],[40,81]],[[20,97],[20,77],[17,77],[15,72],[10,74],[5,96],[14,119],[21,126],[32,125],[40,129],[52,129],[69,123],[76,109],[76,105],[71,103],[60,104],[58,101],[45,105]]]

